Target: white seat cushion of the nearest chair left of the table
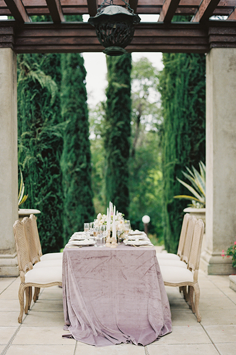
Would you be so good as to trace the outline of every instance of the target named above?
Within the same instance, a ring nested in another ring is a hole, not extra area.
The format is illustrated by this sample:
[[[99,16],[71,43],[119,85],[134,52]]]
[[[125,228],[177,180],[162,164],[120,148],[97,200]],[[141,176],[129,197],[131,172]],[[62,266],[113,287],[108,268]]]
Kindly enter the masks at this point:
[[[34,284],[62,282],[62,268],[55,266],[29,270],[25,275],[25,282]]]

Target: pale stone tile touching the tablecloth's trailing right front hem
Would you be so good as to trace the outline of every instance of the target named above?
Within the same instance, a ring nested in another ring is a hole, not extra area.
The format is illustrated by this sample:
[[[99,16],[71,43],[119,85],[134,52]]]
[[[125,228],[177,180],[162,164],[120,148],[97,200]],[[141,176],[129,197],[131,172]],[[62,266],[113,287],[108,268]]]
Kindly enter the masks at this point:
[[[173,326],[172,333],[161,337],[151,344],[207,344],[211,343],[204,329],[198,325]]]

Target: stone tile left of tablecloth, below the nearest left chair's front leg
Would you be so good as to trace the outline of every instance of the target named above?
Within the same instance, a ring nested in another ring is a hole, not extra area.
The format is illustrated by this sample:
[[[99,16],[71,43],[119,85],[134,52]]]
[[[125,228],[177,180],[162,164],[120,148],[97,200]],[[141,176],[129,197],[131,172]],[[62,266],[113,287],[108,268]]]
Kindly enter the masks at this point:
[[[36,312],[29,311],[22,326],[44,326],[53,325],[60,326],[61,329],[64,326],[64,314],[63,312]]]

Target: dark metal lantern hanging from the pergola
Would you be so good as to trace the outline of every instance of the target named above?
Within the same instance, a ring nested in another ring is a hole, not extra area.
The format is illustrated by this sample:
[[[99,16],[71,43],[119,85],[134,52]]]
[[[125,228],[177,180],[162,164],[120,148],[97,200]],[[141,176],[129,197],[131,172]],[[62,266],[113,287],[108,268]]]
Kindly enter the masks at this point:
[[[105,47],[104,53],[118,56],[126,53],[126,47],[133,39],[134,25],[140,22],[140,17],[134,14],[129,4],[125,7],[113,5],[113,0],[103,1],[97,14],[89,18],[89,23],[95,27],[99,42]]]

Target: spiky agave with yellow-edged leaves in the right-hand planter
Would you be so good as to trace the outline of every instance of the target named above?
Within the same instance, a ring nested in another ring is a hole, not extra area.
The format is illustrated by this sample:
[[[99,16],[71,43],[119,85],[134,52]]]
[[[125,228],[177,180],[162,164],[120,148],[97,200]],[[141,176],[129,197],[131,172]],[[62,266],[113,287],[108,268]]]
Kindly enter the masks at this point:
[[[191,200],[192,204],[188,205],[195,208],[204,208],[206,205],[206,165],[200,161],[199,163],[200,173],[192,166],[192,171],[186,167],[189,174],[182,171],[185,178],[187,178],[192,186],[186,182],[177,178],[177,180],[185,186],[193,196],[177,195],[174,198]]]

